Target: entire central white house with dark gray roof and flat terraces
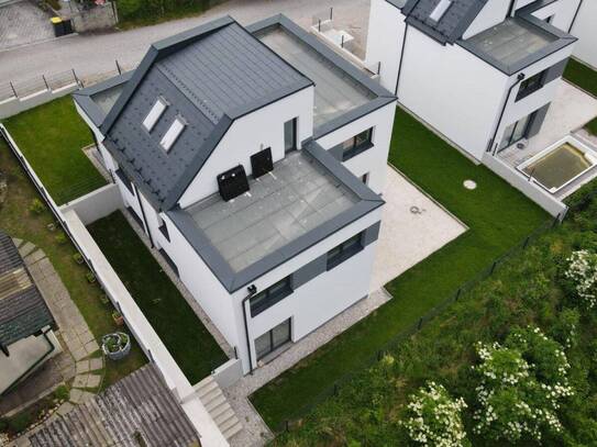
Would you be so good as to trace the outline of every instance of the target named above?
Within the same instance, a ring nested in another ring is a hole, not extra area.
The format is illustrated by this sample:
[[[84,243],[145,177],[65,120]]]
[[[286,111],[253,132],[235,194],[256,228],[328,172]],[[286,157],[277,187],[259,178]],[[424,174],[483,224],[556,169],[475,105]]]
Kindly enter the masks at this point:
[[[189,30],[74,98],[245,373],[367,295],[396,98],[288,19]]]

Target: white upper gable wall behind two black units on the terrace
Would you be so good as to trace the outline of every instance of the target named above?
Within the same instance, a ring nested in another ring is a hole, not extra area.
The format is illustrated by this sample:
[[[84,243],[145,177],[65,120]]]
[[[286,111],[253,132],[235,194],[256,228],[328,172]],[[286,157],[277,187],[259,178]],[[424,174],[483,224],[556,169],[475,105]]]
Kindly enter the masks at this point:
[[[251,175],[251,155],[266,147],[272,147],[274,163],[284,158],[285,122],[298,118],[298,145],[311,136],[313,94],[313,87],[309,87],[235,120],[180,198],[180,206],[187,208],[218,192],[215,176],[239,164],[242,164],[246,174]]]

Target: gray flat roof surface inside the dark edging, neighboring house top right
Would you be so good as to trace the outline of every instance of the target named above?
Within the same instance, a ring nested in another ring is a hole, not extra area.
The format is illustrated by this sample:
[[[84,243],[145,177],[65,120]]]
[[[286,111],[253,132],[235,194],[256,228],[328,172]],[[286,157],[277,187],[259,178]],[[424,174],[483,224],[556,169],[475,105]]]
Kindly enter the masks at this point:
[[[512,65],[544,48],[557,36],[518,19],[508,19],[468,40],[479,51]]]

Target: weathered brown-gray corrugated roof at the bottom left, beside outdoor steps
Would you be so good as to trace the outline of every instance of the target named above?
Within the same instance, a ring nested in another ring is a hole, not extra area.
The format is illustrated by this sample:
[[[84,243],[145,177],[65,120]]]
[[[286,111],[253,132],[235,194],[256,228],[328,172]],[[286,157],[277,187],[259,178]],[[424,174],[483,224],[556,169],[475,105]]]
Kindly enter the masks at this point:
[[[30,436],[33,447],[200,446],[199,435],[153,364]]]

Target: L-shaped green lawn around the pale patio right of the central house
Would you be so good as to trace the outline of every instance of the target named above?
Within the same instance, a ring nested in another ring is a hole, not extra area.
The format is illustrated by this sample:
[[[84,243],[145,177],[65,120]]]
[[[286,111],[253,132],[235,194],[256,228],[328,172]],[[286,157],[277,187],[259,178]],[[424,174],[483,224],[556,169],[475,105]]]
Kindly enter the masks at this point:
[[[253,404],[274,429],[548,220],[401,110],[389,160],[471,230],[387,284],[394,300],[254,393]],[[466,179],[477,189],[466,190]]]

